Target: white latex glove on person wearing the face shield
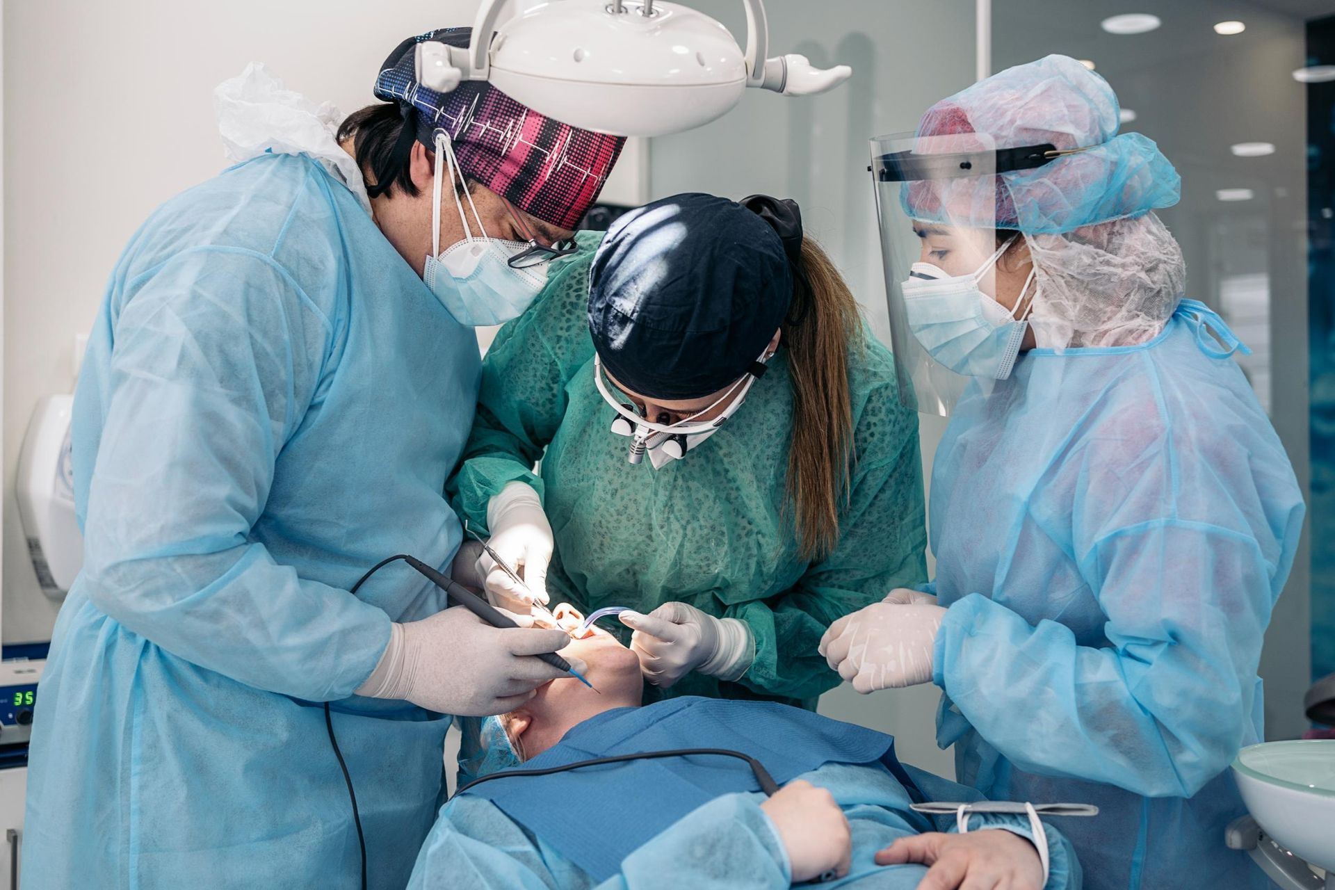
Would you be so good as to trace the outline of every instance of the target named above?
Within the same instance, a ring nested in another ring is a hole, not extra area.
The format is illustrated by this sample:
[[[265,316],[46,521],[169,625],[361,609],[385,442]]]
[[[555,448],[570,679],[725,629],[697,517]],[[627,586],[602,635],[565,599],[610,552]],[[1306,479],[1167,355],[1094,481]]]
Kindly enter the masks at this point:
[[[817,651],[862,694],[929,683],[943,618],[936,604],[872,603],[830,624]]]

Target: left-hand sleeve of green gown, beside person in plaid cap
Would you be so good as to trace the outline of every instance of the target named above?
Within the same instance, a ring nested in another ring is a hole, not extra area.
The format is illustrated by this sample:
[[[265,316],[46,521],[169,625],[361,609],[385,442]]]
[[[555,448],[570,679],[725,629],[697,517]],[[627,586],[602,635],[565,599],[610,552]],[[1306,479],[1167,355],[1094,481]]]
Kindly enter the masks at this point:
[[[566,384],[594,354],[587,320],[591,259],[590,251],[561,264],[533,307],[501,328],[482,360],[477,416],[462,463],[446,484],[455,512],[471,527],[486,528],[487,502],[506,483],[523,482],[543,494],[533,467],[565,418]]]

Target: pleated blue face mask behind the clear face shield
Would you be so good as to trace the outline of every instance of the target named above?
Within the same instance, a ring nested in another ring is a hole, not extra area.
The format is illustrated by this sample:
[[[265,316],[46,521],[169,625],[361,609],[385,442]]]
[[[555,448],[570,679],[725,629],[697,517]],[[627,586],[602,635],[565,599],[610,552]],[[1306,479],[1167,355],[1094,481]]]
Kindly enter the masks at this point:
[[[901,284],[913,336],[933,359],[956,374],[1005,380],[1015,368],[1029,323],[1015,318],[1013,311],[1007,311],[979,288],[979,282],[1013,242],[1003,244],[972,275],[951,276],[932,263],[914,263]],[[1016,308],[1023,304],[1032,282],[1033,270],[1016,298]]]

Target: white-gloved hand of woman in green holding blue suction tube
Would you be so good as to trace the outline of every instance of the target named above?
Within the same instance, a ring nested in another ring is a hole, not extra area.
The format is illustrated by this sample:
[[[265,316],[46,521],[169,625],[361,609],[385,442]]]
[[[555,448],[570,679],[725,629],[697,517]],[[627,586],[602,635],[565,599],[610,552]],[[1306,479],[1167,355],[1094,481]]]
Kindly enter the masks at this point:
[[[663,603],[647,615],[621,612],[618,618],[635,631],[630,648],[654,686],[668,689],[696,670],[736,681],[756,658],[756,638],[746,622],[714,618],[688,603]]]

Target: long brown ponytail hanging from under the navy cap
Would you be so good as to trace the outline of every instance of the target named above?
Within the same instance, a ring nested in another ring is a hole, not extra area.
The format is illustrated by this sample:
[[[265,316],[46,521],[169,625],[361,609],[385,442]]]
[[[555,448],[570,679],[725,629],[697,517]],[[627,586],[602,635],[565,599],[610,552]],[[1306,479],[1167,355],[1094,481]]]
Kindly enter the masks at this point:
[[[848,363],[865,343],[857,300],[809,238],[802,239],[797,279],[793,308],[781,327],[793,388],[785,507],[802,559],[816,562],[838,543],[838,512],[854,456]]]

